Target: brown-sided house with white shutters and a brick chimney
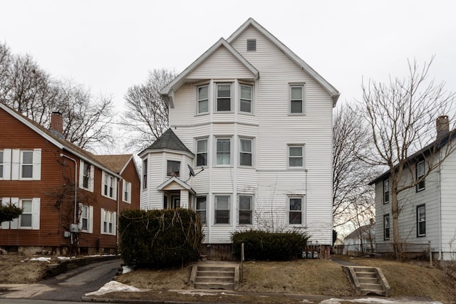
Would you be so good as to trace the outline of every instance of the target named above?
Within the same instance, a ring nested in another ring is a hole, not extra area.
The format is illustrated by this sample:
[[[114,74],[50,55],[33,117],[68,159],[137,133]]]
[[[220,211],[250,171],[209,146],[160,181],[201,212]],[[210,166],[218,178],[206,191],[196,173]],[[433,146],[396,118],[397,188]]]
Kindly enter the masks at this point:
[[[118,214],[139,209],[133,154],[95,155],[0,103],[0,201],[24,209],[1,223],[0,248],[19,253],[117,253]],[[75,187],[76,186],[76,187]]]

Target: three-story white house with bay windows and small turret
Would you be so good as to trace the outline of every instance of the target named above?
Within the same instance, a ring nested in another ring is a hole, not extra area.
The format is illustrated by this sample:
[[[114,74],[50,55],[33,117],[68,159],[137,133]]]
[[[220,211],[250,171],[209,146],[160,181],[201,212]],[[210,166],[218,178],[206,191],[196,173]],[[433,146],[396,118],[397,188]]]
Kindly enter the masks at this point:
[[[140,153],[142,209],[195,209],[212,247],[247,229],[331,245],[331,84],[248,19],[160,93],[170,129]]]

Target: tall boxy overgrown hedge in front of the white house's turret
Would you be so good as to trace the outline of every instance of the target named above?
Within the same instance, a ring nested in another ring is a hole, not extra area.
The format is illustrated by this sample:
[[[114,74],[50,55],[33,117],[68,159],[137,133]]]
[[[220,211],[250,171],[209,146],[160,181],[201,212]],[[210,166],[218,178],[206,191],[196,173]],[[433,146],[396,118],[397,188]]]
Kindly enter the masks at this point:
[[[189,209],[123,211],[119,233],[123,261],[152,268],[197,261],[204,236],[199,216]]]

